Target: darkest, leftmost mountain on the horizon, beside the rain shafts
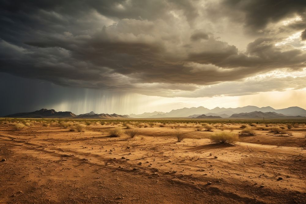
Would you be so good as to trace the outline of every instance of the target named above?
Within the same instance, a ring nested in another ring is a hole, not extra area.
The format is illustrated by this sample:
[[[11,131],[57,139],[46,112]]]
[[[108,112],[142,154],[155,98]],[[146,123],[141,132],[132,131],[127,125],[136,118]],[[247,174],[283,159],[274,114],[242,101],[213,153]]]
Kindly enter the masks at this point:
[[[7,115],[5,117],[21,117],[21,118],[73,118],[76,117],[76,114],[71,113],[70,111],[59,111],[56,112],[54,109],[40,109],[34,112],[28,113],[14,113]]]

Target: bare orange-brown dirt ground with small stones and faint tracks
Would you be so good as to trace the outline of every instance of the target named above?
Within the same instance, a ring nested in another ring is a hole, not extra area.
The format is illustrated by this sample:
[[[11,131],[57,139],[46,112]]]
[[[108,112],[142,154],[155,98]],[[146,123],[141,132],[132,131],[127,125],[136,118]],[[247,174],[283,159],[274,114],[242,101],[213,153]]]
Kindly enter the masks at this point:
[[[188,138],[177,142],[173,126]],[[132,127],[134,138],[109,137],[114,127],[0,125],[0,203],[306,203],[304,125],[234,145],[211,143],[221,130],[195,124]]]

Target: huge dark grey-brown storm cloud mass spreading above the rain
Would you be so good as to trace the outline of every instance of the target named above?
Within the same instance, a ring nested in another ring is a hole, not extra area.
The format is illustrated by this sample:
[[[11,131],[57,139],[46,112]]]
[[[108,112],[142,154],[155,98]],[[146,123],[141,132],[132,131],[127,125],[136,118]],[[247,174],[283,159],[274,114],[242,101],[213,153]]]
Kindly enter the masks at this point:
[[[305,67],[305,51],[276,46],[277,38],[251,40],[241,52],[211,33],[209,24],[203,30],[200,15],[209,11],[201,5],[174,0],[2,1],[0,71],[71,87],[151,95],[141,88],[149,87],[155,95],[170,96],[169,90],[195,91],[275,69]],[[301,1],[220,5],[245,13],[243,22],[250,30],[302,14],[305,8]],[[202,95],[194,97],[205,96],[198,93]]]

